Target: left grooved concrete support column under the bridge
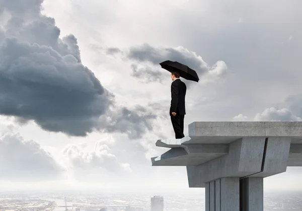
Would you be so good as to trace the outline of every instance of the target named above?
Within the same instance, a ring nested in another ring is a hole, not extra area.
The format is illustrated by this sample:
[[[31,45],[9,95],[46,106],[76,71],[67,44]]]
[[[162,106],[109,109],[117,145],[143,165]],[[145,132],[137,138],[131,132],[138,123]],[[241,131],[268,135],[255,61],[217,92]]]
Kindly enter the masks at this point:
[[[206,211],[240,211],[239,177],[224,177],[206,183]]]

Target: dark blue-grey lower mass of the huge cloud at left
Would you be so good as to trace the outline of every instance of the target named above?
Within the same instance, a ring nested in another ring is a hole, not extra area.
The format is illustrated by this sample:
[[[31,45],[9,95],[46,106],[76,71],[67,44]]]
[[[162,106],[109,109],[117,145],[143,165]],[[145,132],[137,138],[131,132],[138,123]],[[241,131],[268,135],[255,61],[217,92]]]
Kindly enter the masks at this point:
[[[113,96],[70,54],[10,38],[0,45],[0,57],[1,114],[85,135],[112,104]]]

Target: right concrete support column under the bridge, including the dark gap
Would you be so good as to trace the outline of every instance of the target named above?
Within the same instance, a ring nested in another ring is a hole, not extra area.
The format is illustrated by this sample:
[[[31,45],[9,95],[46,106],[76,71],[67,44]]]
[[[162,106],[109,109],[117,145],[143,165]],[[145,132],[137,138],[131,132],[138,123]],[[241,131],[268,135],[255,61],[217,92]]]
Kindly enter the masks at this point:
[[[240,211],[263,210],[263,178],[247,177],[240,180]]]

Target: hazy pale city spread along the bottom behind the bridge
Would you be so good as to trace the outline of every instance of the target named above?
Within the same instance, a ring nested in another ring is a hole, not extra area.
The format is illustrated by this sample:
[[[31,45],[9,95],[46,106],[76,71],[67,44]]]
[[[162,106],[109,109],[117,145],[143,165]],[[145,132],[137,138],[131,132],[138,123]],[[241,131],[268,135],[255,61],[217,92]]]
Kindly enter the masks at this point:
[[[150,211],[150,198],[153,197],[145,193],[135,195],[85,192],[7,192],[0,193],[0,210],[21,208],[22,211],[30,211],[34,208],[35,210],[63,211],[67,206],[67,210],[73,211]],[[301,192],[266,193],[264,196],[264,211],[291,211],[301,207]],[[204,208],[204,195],[180,195],[177,193],[164,195],[164,211],[199,211]]]

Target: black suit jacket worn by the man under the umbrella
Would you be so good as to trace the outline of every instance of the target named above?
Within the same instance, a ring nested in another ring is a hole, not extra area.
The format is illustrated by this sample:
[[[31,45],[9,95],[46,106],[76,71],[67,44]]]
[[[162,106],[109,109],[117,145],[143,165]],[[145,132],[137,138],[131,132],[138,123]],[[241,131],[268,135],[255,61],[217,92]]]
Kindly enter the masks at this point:
[[[186,97],[187,86],[180,79],[176,79],[171,84],[171,107],[170,115],[172,112],[176,114],[185,115],[185,97]]]

